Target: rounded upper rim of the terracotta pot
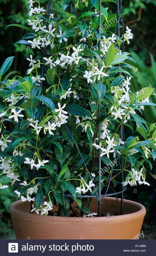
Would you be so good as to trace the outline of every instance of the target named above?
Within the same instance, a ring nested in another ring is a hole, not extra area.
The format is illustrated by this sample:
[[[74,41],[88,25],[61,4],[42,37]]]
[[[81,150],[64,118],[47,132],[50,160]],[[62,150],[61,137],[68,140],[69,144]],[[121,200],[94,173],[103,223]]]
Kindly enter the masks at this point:
[[[113,197],[105,197],[105,200],[110,200],[110,201],[116,201],[116,198],[113,198]],[[118,199],[118,201],[120,201],[121,199]],[[43,218],[45,221],[48,221],[48,220],[55,220],[56,222],[77,222],[77,223],[80,223],[80,222],[93,222],[93,221],[96,221],[96,222],[112,222],[113,220],[115,222],[120,222],[120,221],[128,221],[128,220],[132,220],[132,219],[140,219],[141,216],[145,216],[145,213],[146,213],[146,209],[145,207],[138,203],[138,202],[135,202],[135,201],[130,201],[130,200],[126,200],[126,199],[123,199],[123,202],[126,203],[126,204],[129,204],[129,205],[132,205],[134,207],[137,207],[139,210],[138,211],[135,211],[133,213],[128,213],[128,214],[123,214],[123,215],[117,215],[117,216],[111,216],[110,218],[108,217],[89,217],[89,218],[79,218],[79,217],[60,217],[60,216],[48,216],[48,215],[40,215],[40,214],[32,214],[30,212],[25,212],[25,211],[22,211],[22,210],[19,210],[16,208],[17,205],[19,204],[24,204],[25,202],[23,202],[22,200],[17,200],[15,202],[13,202],[11,205],[10,205],[10,212],[11,212],[11,215],[12,216],[16,216],[18,215],[18,217],[20,219],[29,219],[29,220],[33,220],[33,221],[36,221],[36,222],[40,222],[40,221],[43,221]],[[23,216],[23,217],[22,217]],[[50,218],[50,219],[49,219]]]

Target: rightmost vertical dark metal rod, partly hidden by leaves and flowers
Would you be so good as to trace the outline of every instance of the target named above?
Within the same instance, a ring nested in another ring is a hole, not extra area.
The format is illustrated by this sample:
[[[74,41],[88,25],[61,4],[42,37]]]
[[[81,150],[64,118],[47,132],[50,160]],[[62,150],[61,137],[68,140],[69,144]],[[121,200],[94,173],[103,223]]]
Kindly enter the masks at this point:
[[[121,2],[122,4],[122,2]],[[120,21],[119,21],[119,0],[117,0],[117,35],[120,38]],[[118,46],[118,49],[120,51],[120,46]],[[121,67],[121,64],[119,64],[119,67]],[[121,75],[121,72],[119,72],[119,75]],[[121,125],[121,140],[123,141],[123,124]],[[122,156],[121,156],[122,157]],[[123,168],[123,158],[121,158],[121,169]],[[121,173],[122,182],[123,182],[123,171]],[[123,186],[122,186],[123,191]],[[123,214],[123,193],[121,194],[121,215]]]

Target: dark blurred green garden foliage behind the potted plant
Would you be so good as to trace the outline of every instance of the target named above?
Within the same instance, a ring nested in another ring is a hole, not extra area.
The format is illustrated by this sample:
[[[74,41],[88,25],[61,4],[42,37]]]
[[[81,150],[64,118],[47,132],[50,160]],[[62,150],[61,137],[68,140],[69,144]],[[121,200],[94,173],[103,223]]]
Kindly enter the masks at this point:
[[[41,4],[46,2],[47,0],[42,0]],[[134,92],[142,87],[156,88],[156,0],[122,2],[124,26],[131,28],[134,34],[130,45],[125,44],[125,51],[131,52],[136,61],[135,66],[138,68],[138,72],[133,73],[131,88]],[[15,42],[22,38],[25,31],[18,27],[8,27],[5,30],[5,27],[13,23],[27,26],[27,1],[0,0],[0,5],[0,66],[7,57],[15,56],[7,78],[12,78],[17,73],[24,75],[28,68],[26,58],[32,50],[27,50],[26,45],[15,44]],[[109,14],[115,11],[115,5],[109,3]],[[156,96],[152,95],[150,101],[156,103]],[[144,109],[144,118],[147,122],[155,123],[156,108],[145,106]],[[156,164],[152,163],[152,165],[152,170],[147,166],[146,174],[150,187],[128,187],[124,194],[124,198],[138,201],[146,207],[147,214],[142,228],[146,239],[156,239]],[[2,179],[3,184],[9,184],[8,178],[3,176]],[[17,197],[12,188],[0,190],[0,238],[15,238],[9,213],[9,206],[15,200]]]

